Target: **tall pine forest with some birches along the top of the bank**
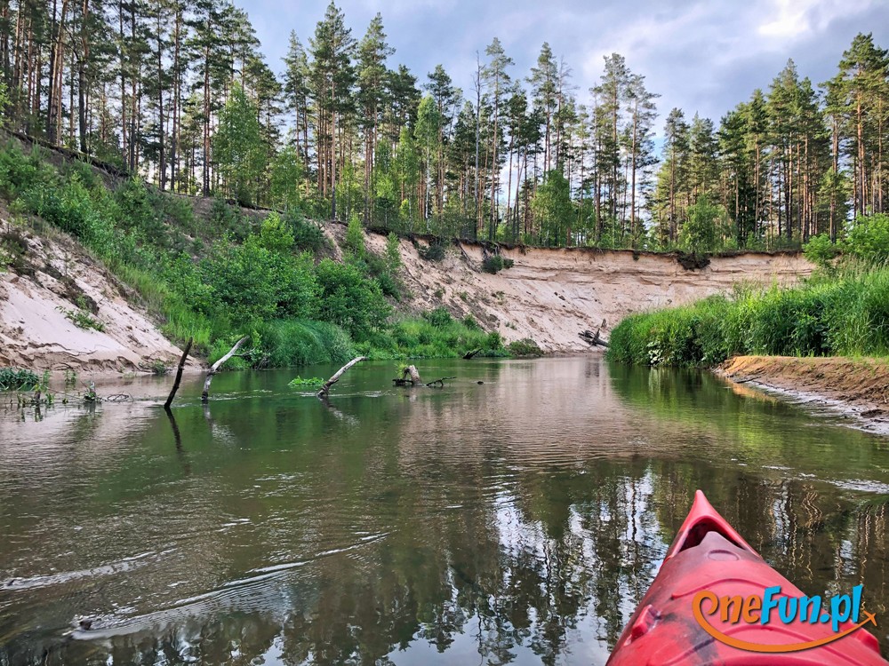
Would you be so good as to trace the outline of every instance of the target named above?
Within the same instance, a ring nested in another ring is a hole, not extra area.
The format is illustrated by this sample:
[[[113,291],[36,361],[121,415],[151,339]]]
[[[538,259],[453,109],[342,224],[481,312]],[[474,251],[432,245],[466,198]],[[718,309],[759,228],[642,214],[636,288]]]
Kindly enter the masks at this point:
[[[549,44],[516,71],[493,37],[461,90],[469,73],[396,64],[379,14],[359,35],[331,3],[268,63],[226,0],[6,0],[4,123],[162,191],[440,237],[781,249],[889,207],[889,56],[870,35],[829,81],[790,60],[718,123],[662,124],[618,53],[579,81]]]

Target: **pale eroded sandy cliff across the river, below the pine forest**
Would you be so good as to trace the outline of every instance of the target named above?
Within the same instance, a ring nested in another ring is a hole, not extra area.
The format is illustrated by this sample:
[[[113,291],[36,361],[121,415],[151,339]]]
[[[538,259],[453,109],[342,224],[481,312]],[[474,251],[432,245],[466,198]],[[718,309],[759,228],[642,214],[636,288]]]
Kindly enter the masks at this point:
[[[373,251],[385,237],[368,236]],[[677,258],[629,250],[501,250],[514,261],[498,274],[482,272],[483,247],[463,243],[449,248],[441,262],[420,258],[402,241],[404,281],[414,311],[445,305],[457,315],[472,314],[508,341],[533,338],[549,352],[578,352],[589,345],[578,337],[605,321],[604,333],[630,313],[681,305],[739,282],[791,284],[812,272],[800,254],[746,253],[713,258],[709,266],[686,270]]]

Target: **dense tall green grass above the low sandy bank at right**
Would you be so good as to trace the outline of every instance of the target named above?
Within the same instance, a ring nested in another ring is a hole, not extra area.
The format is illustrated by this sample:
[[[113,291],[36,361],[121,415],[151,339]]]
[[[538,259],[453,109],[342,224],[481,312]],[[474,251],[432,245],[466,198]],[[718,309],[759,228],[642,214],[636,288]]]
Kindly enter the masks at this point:
[[[634,314],[610,344],[609,358],[643,365],[713,365],[735,354],[887,356],[889,268],[853,266],[794,288],[745,287]]]

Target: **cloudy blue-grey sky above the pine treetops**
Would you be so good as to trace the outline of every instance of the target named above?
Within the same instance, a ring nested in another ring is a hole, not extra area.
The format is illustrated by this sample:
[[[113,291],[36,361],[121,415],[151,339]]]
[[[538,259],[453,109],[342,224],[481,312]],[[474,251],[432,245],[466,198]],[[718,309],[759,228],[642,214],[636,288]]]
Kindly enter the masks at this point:
[[[324,16],[324,2],[235,0],[244,8],[268,64],[283,71],[282,58],[295,31],[303,44]],[[498,37],[524,79],[541,45],[549,42],[571,68],[581,103],[602,74],[604,56],[620,53],[634,74],[645,76],[657,100],[660,129],[680,107],[715,123],[768,90],[787,64],[814,84],[837,73],[837,63],[859,32],[872,32],[889,48],[889,0],[339,0],[352,35],[364,36],[380,12],[390,67],[406,65],[420,83],[441,63],[469,95],[476,53]]]

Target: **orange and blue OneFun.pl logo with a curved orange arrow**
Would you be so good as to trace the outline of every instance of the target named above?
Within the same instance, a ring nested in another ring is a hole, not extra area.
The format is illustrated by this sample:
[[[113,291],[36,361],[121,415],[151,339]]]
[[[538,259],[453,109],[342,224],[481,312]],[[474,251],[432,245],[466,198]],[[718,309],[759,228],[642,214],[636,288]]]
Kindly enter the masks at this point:
[[[853,587],[852,594],[839,594],[829,599],[813,597],[788,597],[781,594],[781,587],[765,588],[762,595],[750,595],[746,599],[737,595],[734,597],[718,597],[716,593],[702,590],[694,595],[692,600],[694,619],[701,624],[710,636],[716,638],[727,646],[737,647],[749,652],[782,653],[799,652],[812,647],[824,646],[848,636],[853,631],[861,629],[865,624],[877,626],[877,618],[861,607],[861,590],[863,586]],[[790,643],[785,645],[765,645],[750,643],[740,638],[726,635],[710,624],[708,618],[717,615],[724,624],[737,625],[741,622],[748,624],[770,624],[781,622],[791,624],[793,622],[808,622],[809,624],[830,624],[830,633],[824,638],[810,640],[804,643]],[[861,617],[864,617],[861,620]],[[840,630],[840,624],[852,622],[852,626]]]

